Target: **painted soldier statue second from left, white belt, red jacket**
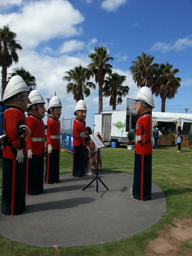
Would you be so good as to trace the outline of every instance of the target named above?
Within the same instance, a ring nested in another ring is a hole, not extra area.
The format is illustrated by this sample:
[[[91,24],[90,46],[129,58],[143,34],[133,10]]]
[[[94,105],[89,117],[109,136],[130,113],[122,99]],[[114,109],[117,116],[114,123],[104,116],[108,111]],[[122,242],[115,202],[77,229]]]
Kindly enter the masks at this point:
[[[38,92],[29,93],[27,125],[31,131],[27,138],[26,195],[38,195],[44,191],[45,101]]]

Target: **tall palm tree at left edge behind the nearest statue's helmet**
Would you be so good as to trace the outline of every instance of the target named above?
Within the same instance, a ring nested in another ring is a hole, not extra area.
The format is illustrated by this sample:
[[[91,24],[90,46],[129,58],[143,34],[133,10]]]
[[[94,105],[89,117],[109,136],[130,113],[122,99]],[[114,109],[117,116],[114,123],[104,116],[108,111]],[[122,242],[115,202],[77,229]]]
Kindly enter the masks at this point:
[[[8,25],[0,28],[0,66],[2,67],[2,86],[1,99],[3,98],[4,89],[6,88],[7,68],[12,63],[18,63],[19,57],[17,50],[22,50],[22,46],[16,40],[17,33],[10,31]]]

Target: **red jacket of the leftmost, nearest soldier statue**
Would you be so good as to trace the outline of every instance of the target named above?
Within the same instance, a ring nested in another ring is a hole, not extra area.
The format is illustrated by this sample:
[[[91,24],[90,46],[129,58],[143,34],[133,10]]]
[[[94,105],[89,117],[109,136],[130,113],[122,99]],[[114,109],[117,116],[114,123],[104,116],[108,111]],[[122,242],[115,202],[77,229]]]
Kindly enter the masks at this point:
[[[24,139],[21,140],[19,137],[19,126],[26,125],[26,115],[22,109],[12,106],[4,111],[3,118],[3,130],[8,135],[8,139],[12,144],[11,146],[9,143],[4,143],[3,157],[16,159],[13,148],[15,148],[15,150],[24,148]]]

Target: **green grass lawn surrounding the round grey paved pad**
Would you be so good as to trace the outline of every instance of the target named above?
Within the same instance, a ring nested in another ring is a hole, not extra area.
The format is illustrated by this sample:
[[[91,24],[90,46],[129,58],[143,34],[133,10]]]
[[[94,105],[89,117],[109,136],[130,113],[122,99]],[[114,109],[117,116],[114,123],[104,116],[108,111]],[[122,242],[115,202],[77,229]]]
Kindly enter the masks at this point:
[[[173,218],[192,218],[192,150],[183,147],[180,154],[176,147],[159,147],[153,151],[152,180],[164,192],[167,209],[163,218],[153,227],[127,239],[95,246],[58,248],[38,248],[15,243],[0,237],[1,256],[142,256],[145,246],[158,236],[157,232],[165,225],[172,224]],[[102,148],[102,166],[111,172],[133,173],[134,150],[126,147]],[[0,163],[0,175],[1,174]],[[72,154],[61,152],[60,173],[72,172]],[[0,177],[1,178],[1,177]],[[126,184],[125,184],[126,186]],[[65,216],[63,216],[65,218]],[[1,228],[1,227],[0,227]],[[44,232],[44,230],[42,230]],[[65,227],[63,227],[65,232]],[[19,236],[19,234],[18,234]],[[182,246],[182,244],[180,245]],[[189,248],[190,245],[189,245]]]

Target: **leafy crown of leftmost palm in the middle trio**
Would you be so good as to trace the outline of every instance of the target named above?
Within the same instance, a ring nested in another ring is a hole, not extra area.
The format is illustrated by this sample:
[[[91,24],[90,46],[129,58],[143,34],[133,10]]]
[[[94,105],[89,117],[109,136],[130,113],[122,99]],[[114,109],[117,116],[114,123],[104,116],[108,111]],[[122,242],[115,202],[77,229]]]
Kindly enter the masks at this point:
[[[84,95],[85,97],[90,95],[89,88],[95,89],[95,84],[87,82],[92,76],[92,73],[88,68],[83,68],[79,65],[78,67],[66,71],[65,74],[67,74],[67,76],[63,76],[63,80],[67,80],[68,82],[74,81],[74,83],[71,82],[67,84],[67,93],[73,93],[76,102],[81,99],[83,100]]]

